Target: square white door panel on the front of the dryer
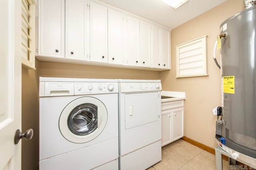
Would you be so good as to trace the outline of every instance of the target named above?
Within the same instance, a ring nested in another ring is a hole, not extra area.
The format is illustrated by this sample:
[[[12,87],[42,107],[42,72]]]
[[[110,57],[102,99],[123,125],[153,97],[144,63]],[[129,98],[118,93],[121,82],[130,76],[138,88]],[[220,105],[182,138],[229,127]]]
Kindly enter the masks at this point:
[[[160,117],[158,92],[125,95],[125,129],[158,121]]]

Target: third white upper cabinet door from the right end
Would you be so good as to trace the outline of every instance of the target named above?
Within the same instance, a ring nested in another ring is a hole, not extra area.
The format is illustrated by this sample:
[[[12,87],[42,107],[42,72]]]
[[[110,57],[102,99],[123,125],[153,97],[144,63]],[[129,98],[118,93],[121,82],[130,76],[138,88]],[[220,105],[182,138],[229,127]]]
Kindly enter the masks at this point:
[[[140,66],[150,67],[151,25],[140,21]]]

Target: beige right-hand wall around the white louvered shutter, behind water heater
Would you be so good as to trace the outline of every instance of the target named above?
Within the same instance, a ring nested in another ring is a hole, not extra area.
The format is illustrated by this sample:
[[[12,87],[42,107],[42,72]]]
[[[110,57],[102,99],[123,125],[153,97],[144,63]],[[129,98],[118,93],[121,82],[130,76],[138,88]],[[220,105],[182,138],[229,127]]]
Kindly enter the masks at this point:
[[[216,147],[215,116],[212,109],[221,106],[220,70],[213,61],[213,47],[220,24],[237,12],[244,10],[242,0],[227,0],[204,14],[172,29],[171,68],[161,72],[163,90],[186,92],[184,135],[209,147]],[[175,46],[208,35],[208,76],[175,78]],[[220,52],[216,54],[220,63]]]

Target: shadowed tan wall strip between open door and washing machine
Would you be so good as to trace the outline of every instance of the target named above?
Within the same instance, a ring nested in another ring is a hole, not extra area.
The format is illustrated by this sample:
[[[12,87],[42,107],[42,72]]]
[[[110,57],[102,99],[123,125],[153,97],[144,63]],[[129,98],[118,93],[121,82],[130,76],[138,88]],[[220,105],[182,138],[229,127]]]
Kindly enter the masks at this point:
[[[38,68],[36,60],[36,68]],[[22,170],[38,170],[39,163],[39,94],[38,69],[22,68],[22,132],[34,130],[30,141],[22,139]]]

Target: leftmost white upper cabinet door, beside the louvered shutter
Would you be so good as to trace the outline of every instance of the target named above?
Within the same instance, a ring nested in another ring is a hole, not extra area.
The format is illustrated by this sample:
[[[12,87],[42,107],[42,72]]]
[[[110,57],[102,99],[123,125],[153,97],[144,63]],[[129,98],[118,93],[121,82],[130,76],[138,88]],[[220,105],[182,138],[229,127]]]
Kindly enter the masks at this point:
[[[64,57],[64,0],[38,2],[38,55]]]

